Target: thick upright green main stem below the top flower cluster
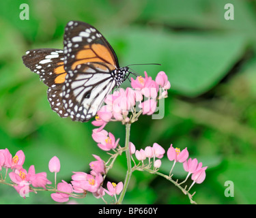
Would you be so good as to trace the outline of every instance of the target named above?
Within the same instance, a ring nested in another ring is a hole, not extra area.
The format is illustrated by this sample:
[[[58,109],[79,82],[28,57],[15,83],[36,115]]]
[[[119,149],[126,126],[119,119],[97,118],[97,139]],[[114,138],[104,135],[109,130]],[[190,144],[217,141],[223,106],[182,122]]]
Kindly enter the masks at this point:
[[[130,181],[130,176],[132,176],[132,163],[130,159],[130,149],[129,149],[129,142],[130,142],[130,123],[126,123],[126,159],[127,159],[127,172],[126,172],[126,179],[124,181],[124,189],[119,196],[117,204],[122,204],[124,200],[124,196],[126,194],[126,190]]]

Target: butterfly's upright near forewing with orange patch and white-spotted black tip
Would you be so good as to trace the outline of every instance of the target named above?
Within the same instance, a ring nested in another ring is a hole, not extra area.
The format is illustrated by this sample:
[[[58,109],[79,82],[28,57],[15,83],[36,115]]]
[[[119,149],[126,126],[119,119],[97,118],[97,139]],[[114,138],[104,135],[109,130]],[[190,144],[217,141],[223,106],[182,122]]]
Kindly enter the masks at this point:
[[[68,22],[63,44],[66,72],[74,71],[77,65],[83,63],[109,63],[112,65],[111,70],[119,67],[109,42],[97,29],[85,22]]]

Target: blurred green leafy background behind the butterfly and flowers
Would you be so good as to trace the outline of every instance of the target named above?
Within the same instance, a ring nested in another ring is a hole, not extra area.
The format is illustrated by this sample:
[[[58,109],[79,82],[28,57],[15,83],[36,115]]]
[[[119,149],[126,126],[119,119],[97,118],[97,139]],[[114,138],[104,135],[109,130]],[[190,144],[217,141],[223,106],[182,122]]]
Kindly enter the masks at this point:
[[[29,5],[29,20],[20,20],[20,4]],[[225,20],[233,3],[234,20]],[[205,181],[195,185],[198,204],[255,204],[256,198],[256,1],[240,0],[46,0],[0,2],[0,142],[12,155],[25,152],[25,168],[47,172],[48,161],[61,161],[59,181],[72,171],[89,171],[91,154],[107,158],[91,138],[91,122],[61,119],[46,97],[46,86],[23,65],[32,48],[63,48],[69,20],[94,25],[115,49],[119,63],[161,63],[133,66],[155,78],[165,71],[171,91],[165,118],[141,116],[132,124],[130,140],[137,149],[154,142],[184,149],[208,166]],[[128,81],[122,86],[126,87]],[[106,130],[124,145],[125,127],[109,123]],[[169,172],[165,156],[161,172]],[[106,178],[124,181],[126,158],[119,157]],[[184,179],[182,165],[174,177]],[[234,197],[224,195],[233,181]],[[189,179],[187,185],[191,184]],[[49,193],[31,193],[23,200],[0,185],[1,204],[55,204]],[[98,204],[87,198],[79,204]],[[124,204],[189,204],[187,196],[160,178],[134,172]]]

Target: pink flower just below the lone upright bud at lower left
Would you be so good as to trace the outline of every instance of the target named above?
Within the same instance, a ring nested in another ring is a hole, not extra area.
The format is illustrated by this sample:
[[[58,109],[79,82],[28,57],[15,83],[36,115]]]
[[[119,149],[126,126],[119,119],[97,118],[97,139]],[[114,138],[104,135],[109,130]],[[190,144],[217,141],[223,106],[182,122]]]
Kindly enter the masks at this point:
[[[72,185],[67,183],[66,181],[62,181],[62,183],[58,183],[57,185],[58,191],[63,191],[66,193],[56,192],[51,194],[51,198],[55,200],[55,202],[68,202],[70,195],[68,193],[73,192]]]

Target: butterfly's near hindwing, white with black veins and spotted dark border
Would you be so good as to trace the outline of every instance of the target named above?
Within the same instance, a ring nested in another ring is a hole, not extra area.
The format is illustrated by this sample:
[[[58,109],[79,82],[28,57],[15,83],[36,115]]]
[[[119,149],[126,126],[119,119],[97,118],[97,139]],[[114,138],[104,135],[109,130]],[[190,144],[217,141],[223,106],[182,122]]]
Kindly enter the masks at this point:
[[[110,66],[111,67],[111,66]],[[96,116],[100,106],[115,87],[106,63],[77,65],[63,84],[63,104],[73,121],[86,122]]]

